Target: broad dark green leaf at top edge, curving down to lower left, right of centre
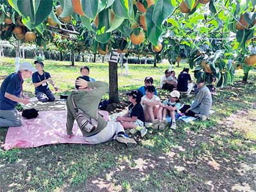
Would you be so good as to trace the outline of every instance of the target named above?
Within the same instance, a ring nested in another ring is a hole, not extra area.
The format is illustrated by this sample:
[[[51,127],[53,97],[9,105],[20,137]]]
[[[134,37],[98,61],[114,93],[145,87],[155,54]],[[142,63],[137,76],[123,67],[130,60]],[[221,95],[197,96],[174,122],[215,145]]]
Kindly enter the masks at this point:
[[[154,6],[154,11],[152,15],[152,20],[154,24],[158,28],[161,27],[164,19],[166,19],[169,15],[171,15],[175,10],[175,6],[173,6],[170,0],[159,0]]]

